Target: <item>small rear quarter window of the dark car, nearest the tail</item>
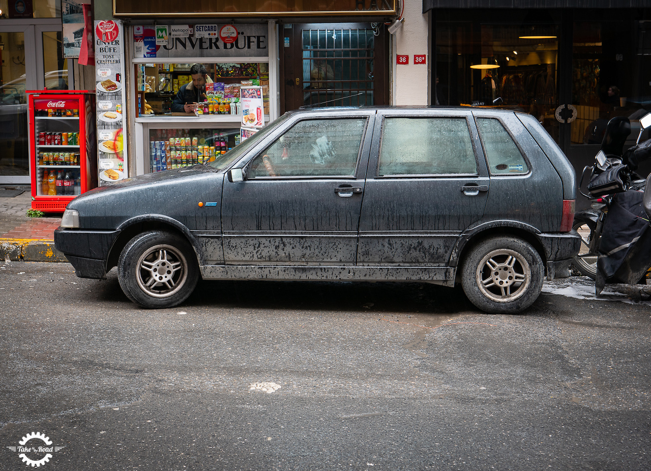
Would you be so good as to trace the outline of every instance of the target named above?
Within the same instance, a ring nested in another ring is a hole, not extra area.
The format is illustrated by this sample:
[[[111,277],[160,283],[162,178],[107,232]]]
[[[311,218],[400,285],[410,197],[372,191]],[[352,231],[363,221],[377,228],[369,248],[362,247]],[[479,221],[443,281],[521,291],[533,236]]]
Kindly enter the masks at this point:
[[[513,138],[498,119],[478,118],[477,129],[484,143],[488,169],[493,175],[523,174],[529,171],[527,161]]]

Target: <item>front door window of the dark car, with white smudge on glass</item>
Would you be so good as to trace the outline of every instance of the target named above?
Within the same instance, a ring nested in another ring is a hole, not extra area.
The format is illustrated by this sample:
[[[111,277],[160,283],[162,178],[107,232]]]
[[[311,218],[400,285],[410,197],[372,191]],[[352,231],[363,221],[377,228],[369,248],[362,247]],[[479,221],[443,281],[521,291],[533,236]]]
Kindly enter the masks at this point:
[[[249,178],[353,176],[367,118],[299,121],[264,149]]]

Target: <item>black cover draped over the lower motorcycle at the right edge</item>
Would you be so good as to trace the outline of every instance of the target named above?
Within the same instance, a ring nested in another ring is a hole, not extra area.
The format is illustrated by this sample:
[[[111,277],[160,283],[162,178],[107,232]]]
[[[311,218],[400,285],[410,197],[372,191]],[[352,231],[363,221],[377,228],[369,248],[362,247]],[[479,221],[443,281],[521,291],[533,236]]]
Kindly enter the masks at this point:
[[[613,196],[599,243],[596,294],[605,283],[635,284],[651,268],[651,227],[643,195],[628,190]]]

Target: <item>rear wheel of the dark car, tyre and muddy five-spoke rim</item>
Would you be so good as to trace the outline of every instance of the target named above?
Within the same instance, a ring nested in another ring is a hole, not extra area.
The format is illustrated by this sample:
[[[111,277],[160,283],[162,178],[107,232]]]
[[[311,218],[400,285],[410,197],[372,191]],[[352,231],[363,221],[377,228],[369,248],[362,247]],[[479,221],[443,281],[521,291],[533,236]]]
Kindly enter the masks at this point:
[[[544,275],[542,259],[531,244],[508,236],[491,237],[471,248],[461,272],[465,295],[491,314],[527,309],[538,298]]]

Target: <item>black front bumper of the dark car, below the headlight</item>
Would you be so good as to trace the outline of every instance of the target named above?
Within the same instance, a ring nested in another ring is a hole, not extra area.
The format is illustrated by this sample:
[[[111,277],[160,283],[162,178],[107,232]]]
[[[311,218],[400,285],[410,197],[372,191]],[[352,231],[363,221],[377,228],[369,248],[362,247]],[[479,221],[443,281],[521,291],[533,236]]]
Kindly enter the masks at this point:
[[[104,278],[113,242],[120,231],[84,231],[63,229],[54,231],[54,246],[66,255],[79,278]]]

